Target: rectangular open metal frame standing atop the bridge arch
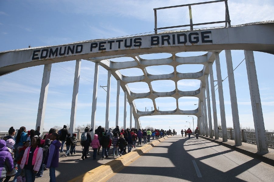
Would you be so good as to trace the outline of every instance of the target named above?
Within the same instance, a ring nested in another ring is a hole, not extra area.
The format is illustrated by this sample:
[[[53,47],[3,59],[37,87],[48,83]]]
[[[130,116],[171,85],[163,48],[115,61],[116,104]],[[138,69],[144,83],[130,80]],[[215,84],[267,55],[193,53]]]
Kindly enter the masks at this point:
[[[226,8],[226,15],[225,15],[225,21],[218,21],[218,22],[205,22],[205,23],[195,23],[193,24],[192,22],[192,12],[191,12],[191,6],[193,5],[202,5],[202,4],[209,4],[209,3],[215,3],[215,2],[225,2],[225,8]],[[190,23],[188,25],[177,25],[177,26],[169,26],[169,27],[160,27],[157,28],[157,10],[160,9],[167,9],[167,8],[177,8],[177,7],[183,7],[183,6],[188,6],[188,11],[189,11],[189,19]],[[207,25],[207,24],[214,24],[214,23],[226,23],[225,26],[230,27],[230,16],[229,16],[229,11],[228,11],[228,5],[227,5],[227,0],[218,0],[218,1],[208,1],[208,2],[199,2],[199,3],[192,3],[192,4],[185,4],[185,5],[176,5],[176,6],[167,6],[167,7],[161,7],[161,8],[153,8],[154,10],[154,32],[157,34],[157,30],[161,29],[172,29],[172,28],[178,28],[178,27],[188,27],[190,26],[190,30],[193,30],[193,26],[196,25]]]

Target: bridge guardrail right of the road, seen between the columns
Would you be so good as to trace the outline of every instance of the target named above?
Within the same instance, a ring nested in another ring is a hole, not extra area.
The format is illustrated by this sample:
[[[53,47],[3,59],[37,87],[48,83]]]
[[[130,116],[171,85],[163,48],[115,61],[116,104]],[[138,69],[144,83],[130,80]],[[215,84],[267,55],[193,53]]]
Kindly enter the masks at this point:
[[[213,136],[214,136],[214,130],[213,130]],[[267,145],[274,147],[274,132],[265,132],[266,139],[267,139]],[[219,137],[223,137],[223,131],[219,130]],[[227,138],[231,140],[235,140],[235,132],[234,130],[227,130]],[[243,142],[249,142],[249,143],[257,143],[256,142],[256,135],[255,131],[246,131],[242,130],[241,133],[241,140]]]

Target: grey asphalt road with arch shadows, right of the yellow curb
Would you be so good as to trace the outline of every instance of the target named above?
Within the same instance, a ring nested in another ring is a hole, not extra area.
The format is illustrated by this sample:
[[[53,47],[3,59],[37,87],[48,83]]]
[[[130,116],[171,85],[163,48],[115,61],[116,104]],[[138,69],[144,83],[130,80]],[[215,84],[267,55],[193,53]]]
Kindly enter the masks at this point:
[[[209,140],[172,136],[109,178],[133,181],[274,181],[274,167]]]

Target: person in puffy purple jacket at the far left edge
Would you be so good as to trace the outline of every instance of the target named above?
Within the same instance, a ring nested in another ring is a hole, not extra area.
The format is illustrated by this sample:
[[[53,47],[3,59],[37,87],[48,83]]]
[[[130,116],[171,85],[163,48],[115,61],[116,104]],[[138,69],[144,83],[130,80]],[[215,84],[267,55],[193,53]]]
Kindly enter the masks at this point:
[[[6,147],[6,141],[0,140],[0,182],[3,181],[7,173],[5,166],[11,172],[13,170],[13,159]]]

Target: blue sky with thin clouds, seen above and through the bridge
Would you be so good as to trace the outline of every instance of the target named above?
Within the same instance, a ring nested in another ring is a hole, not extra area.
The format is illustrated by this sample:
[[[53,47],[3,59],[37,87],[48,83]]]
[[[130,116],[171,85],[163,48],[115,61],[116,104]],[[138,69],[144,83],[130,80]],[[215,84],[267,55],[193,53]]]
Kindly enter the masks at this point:
[[[133,35],[145,32],[153,32],[154,12],[153,8],[181,5],[193,1],[0,1],[0,51],[23,49],[28,45],[32,47],[59,45],[71,42],[113,38],[125,35]],[[224,19],[224,3],[215,5],[200,5],[192,7],[193,22],[210,22]],[[239,1],[229,0],[231,25],[239,25],[249,22],[258,22],[274,19],[274,2],[265,1]],[[157,11],[158,27],[188,24],[188,8],[176,8]],[[201,25],[196,28],[223,26]],[[197,56],[204,52],[183,52],[180,56]],[[168,54],[143,55],[146,59],[168,57]],[[254,52],[259,89],[261,94],[265,128],[274,130],[274,94],[273,94],[273,55]],[[141,56],[142,57],[142,56]],[[234,68],[244,59],[242,50],[232,51]],[[121,61],[121,60],[120,60]],[[123,61],[123,60],[122,60]],[[222,78],[227,77],[224,51],[220,53]],[[19,128],[26,126],[27,130],[34,129],[40,96],[41,80],[44,66],[25,68],[8,75],[0,76],[0,131],[7,131],[10,126]],[[48,91],[46,116],[44,128],[48,130],[52,126],[63,126],[70,121],[72,89],[74,79],[75,61],[52,64],[51,78]],[[201,70],[200,65],[184,65],[181,71],[196,72]],[[151,67],[151,74],[166,74],[172,72],[168,66]],[[216,79],[215,64],[213,64],[214,79]],[[124,75],[135,76],[140,74],[136,70],[124,70]],[[78,96],[78,108],[76,125],[91,122],[91,103],[93,93],[94,63],[82,60],[80,73],[80,86]],[[237,100],[239,108],[240,124],[243,127],[254,128],[249,87],[245,62],[234,71]],[[163,88],[161,85],[165,84]],[[181,90],[198,89],[196,80],[181,81]],[[100,86],[107,85],[107,71],[99,68]],[[174,83],[169,81],[157,81],[152,83],[156,91],[173,90]],[[133,92],[146,92],[146,86],[142,83],[129,85]],[[116,118],[116,89],[117,81],[111,79],[110,96],[110,126],[115,126]],[[224,101],[227,126],[233,126],[230,106],[228,80],[223,82]],[[218,92],[216,91],[217,115],[220,122],[220,108]],[[182,98],[180,109],[192,110],[197,108],[196,98]],[[123,126],[124,93],[120,93],[119,125]],[[156,104],[160,110],[173,110],[172,98],[159,98]],[[151,109],[152,102],[149,99],[136,100],[139,110]],[[105,125],[106,92],[98,88],[96,125]],[[129,126],[129,104],[127,105],[127,126]],[[146,116],[140,118],[142,127],[147,125],[163,128],[172,128],[178,132],[185,129],[192,118],[188,116]],[[194,121],[196,125],[196,120]]]

